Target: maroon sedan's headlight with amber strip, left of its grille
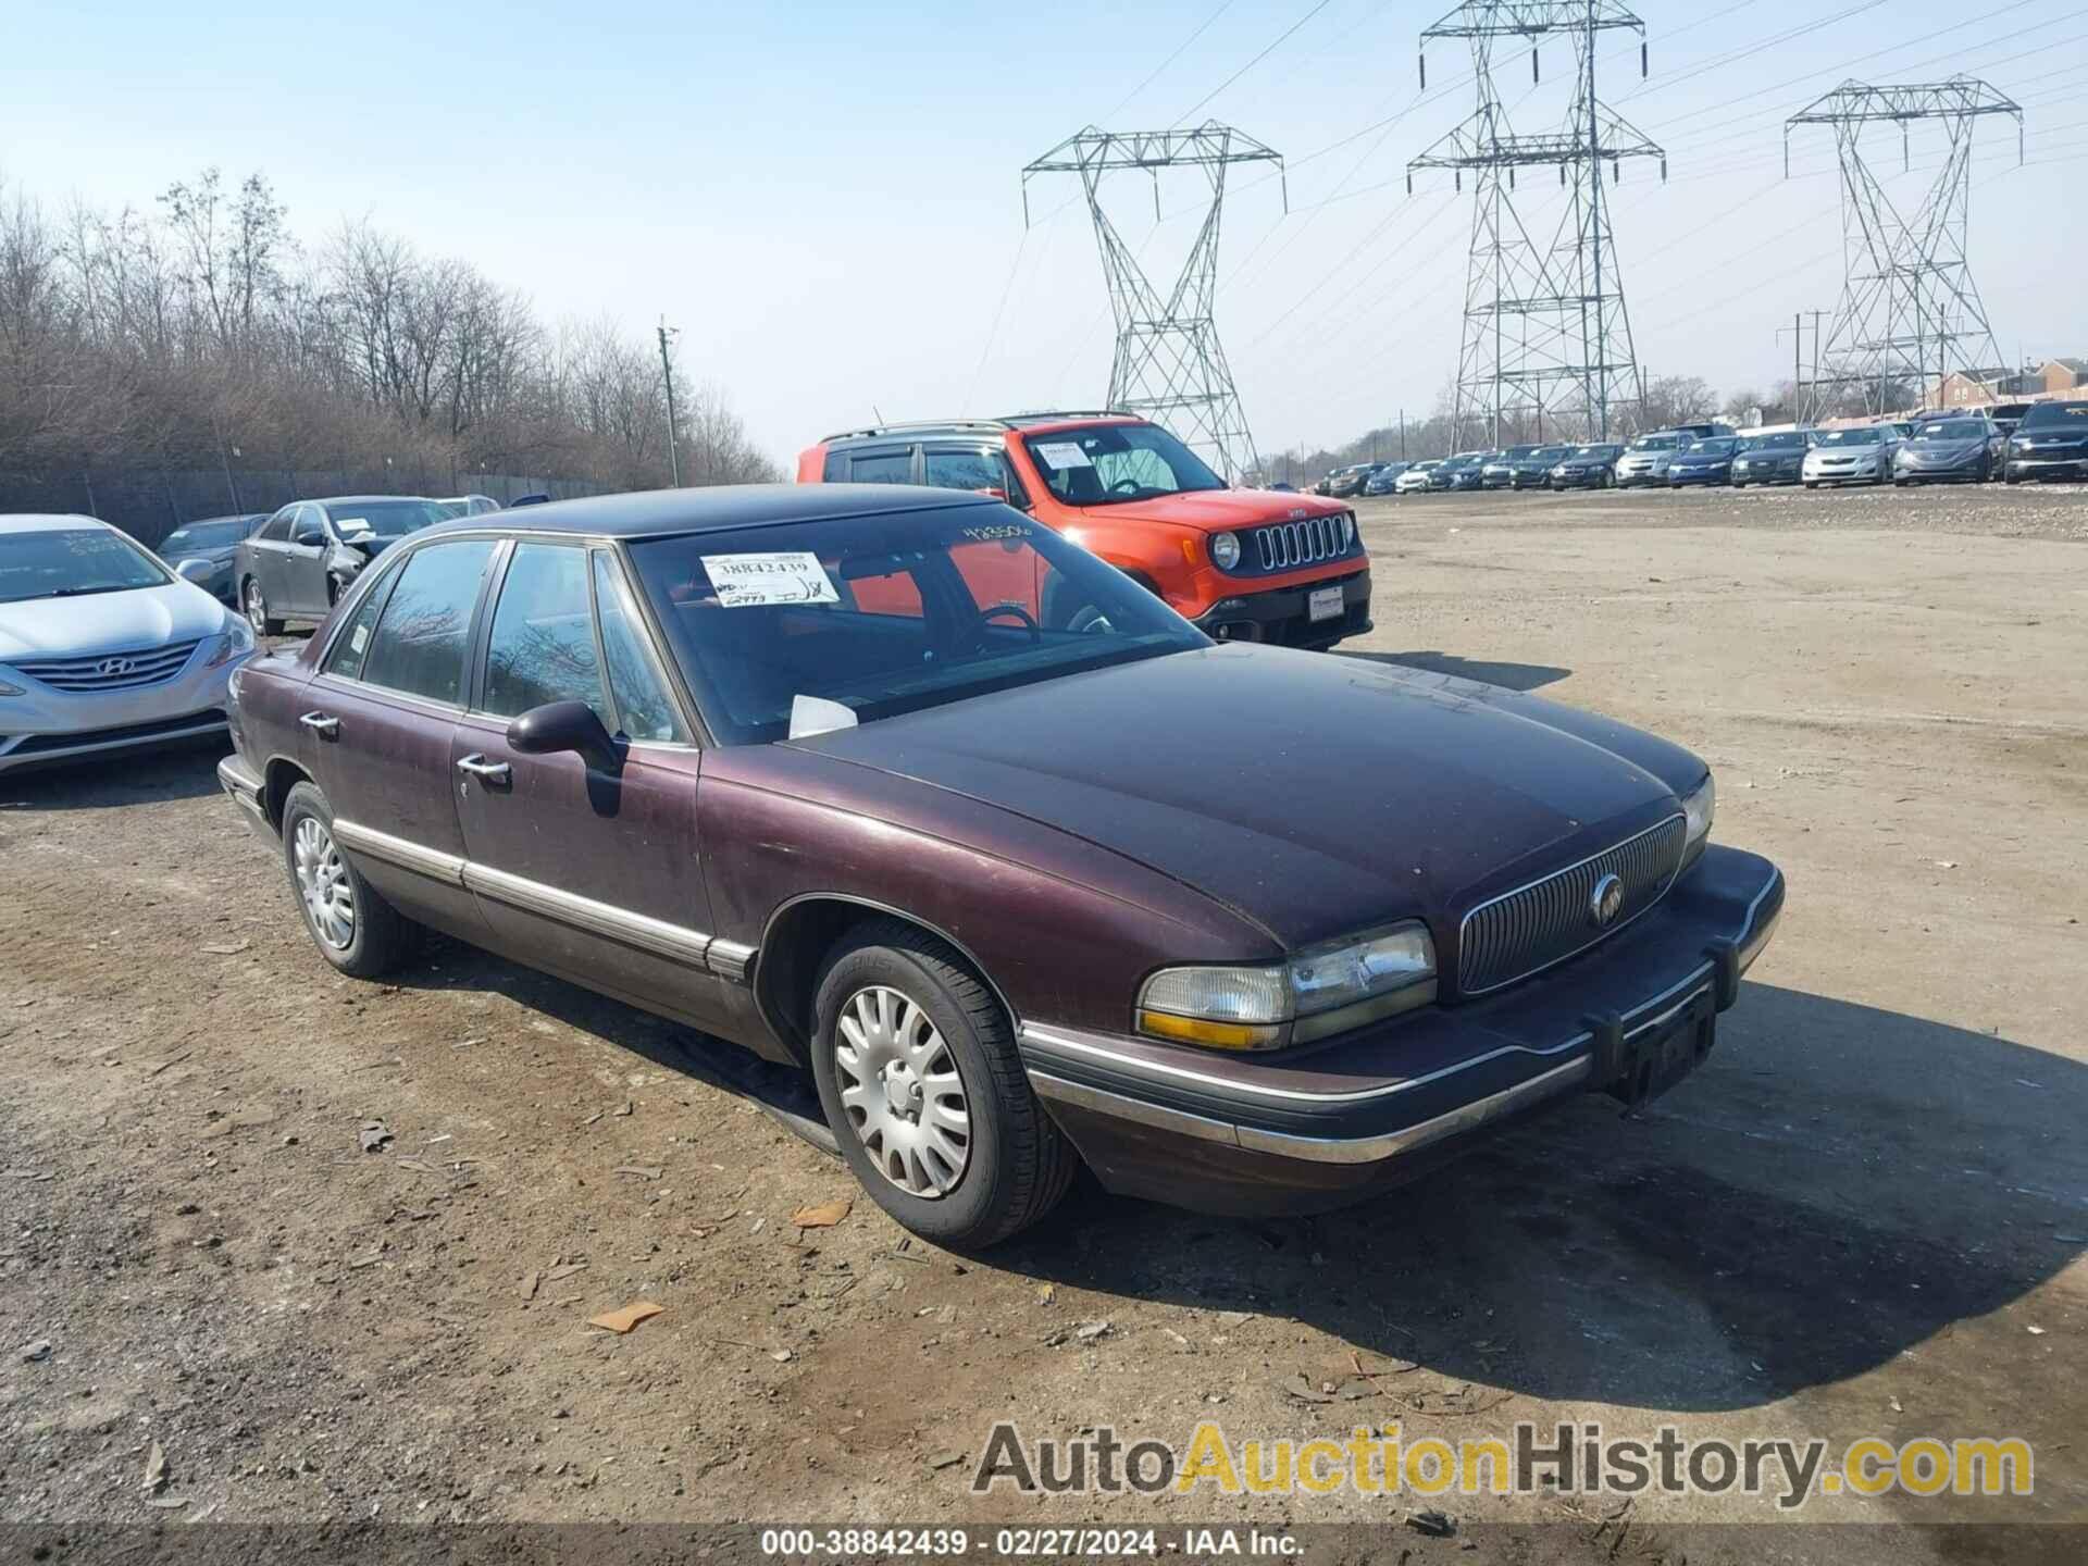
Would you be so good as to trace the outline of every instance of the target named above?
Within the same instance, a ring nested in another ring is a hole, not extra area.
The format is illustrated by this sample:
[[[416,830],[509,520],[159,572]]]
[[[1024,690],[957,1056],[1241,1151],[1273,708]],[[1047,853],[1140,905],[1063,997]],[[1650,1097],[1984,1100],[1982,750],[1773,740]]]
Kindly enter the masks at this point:
[[[1138,996],[1138,1031],[1217,1050],[1270,1050],[1434,1000],[1426,925],[1313,946],[1272,967],[1161,969]]]

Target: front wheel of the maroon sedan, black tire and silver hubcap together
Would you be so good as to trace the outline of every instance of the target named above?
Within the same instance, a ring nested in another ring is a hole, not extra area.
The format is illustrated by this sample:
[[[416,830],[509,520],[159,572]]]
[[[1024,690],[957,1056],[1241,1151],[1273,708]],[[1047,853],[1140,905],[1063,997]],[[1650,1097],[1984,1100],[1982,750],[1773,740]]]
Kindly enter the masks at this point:
[[[915,1234],[983,1249],[1036,1224],[1073,1180],[1006,1011],[946,942],[896,919],[821,967],[812,1077],[841,1157]]]

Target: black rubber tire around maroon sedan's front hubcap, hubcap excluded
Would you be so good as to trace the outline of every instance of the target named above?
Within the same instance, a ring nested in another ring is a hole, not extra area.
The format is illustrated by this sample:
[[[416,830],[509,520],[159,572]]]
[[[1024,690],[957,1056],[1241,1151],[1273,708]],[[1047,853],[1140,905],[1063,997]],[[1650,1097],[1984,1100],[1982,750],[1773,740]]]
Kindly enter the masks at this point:
[[[927,1013],[965,1084],[965,1169],[940,1196],[917,1196],[885,1176],[841,1102],[833,1059],[839,1019],[871,986],[898,990]],[[812,1015],[812,1077],[827,1123],[856,1180],[904,1228],[952,1251],[977,1251],[1029,1228],[1065,1196],[1077,1167],[1073,1146],[1029,1090],[1000,1000],[948,942],[898,919],[858,925],[821,963]]]

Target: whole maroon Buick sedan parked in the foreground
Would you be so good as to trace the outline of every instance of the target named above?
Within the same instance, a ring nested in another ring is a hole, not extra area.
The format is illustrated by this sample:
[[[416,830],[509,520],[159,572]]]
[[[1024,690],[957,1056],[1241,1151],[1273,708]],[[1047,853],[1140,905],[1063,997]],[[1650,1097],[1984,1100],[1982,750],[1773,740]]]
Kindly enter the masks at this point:
[[[1695,756],[1217,645],[983,495],[618,495],[428,528],[234,685],[322,956],[426,925],[810,1069],[908,1228],[1067,1188],[1332,1207],[1712,1044],[1783,879]]]

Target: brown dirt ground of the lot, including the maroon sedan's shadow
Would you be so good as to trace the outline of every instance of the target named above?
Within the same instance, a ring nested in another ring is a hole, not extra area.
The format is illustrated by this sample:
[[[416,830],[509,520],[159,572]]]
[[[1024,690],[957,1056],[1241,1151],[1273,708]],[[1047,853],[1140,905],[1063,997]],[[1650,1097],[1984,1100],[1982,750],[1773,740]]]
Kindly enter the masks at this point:
[[[1998,1551],[1789,1518],[2088,1520],[2088,491],[1361,516],[1378,631],[1345,656],[1670,735],[1716,768],[1721,839],[1789,875],[1710,1063],[1643,1119],[1583,1098],[1303,1224],[1079,1188],[950,1257],[714,1086],[720,1044],[451,944],[397,983],[334,977],[215,752],[6,777],[0,1518],[1386,1522],[1351,1558],[2067,1558],[2057,1528]],[[390,1134],[370,1153],[367,1121]],[[664,1311],[628,1336],[587,1326],[641,1299]],[[2038,1468],[2027,1499],[1798,1514],[1457,1497],[1432,1505],[1460,1537],[1430,1539],[1411,1497],[973,1497],[998,1418],[1178,1449],[1199,1420],[2019,1434]]]

